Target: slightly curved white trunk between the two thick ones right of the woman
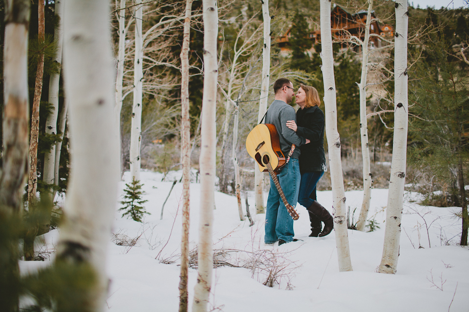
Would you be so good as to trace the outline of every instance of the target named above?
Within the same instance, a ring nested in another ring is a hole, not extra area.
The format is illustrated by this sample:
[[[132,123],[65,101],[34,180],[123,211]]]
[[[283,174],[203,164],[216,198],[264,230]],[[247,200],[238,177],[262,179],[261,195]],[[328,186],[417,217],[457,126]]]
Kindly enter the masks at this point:
[[[370,39],[371,10],[373,0],[368,0],[368,13],[365,26],[365,38],[362,42],[362,78],[360,80],[360,137],[362,139],[363,160],[363,201],[357,230],[364,231],[371,199],[370,149],[368,144],[368,123],[366,121],[366,76],[368,74],[368,42]]]

